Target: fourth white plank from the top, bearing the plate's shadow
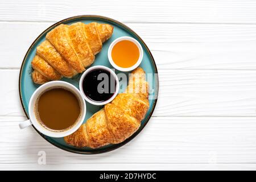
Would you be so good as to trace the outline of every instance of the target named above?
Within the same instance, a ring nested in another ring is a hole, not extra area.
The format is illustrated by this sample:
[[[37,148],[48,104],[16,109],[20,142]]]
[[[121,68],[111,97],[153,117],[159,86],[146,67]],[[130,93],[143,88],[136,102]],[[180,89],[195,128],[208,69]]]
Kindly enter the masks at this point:
[[[19,169],[26,163],[26,169],[96,169],[102,164],[116,169],[122,163],[129,164],[126,168],[130,169],[142,169],[142,164],[150,164],[147,169],[156,169],[161,164],[166,164],[161,168],[172,169],[174,166],[168,164],[203,163],[210,168],[256,162],[256,121],[251,117],[153,117],[131,142],[99,155],[77,155],[57,149],[32,127],[20,130],[18,123],[25,119],[0,117],[0,168],[13,164]],[[38,164],[39,151],[46,152],[44,167]]]

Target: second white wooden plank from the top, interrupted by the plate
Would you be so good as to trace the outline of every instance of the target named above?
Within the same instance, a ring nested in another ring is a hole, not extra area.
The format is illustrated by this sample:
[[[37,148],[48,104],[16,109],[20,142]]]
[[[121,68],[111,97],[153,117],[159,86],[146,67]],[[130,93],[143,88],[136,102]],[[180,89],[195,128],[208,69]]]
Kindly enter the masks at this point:
[[[0,68],[19,69],[52,23],[0,22]],[[256,25],[127,23],[150,48],[158,69],[256,70]],[[14,42],[19,42],[15,43]]]

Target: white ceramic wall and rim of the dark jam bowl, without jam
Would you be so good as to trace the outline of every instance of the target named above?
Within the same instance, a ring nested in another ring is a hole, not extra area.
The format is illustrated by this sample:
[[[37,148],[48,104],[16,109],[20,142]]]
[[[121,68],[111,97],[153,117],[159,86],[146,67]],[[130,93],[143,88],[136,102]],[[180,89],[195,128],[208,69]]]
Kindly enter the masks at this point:
[[[106,100],[104,102],[96,102],[96,101],[93,101],[93,100],[90,100],[90,98],[88,98],[85,93],[84,93],[84,90],[82,89],[82,82],[84,81],[84,78],[85,76],[93,71],[94,69],[105,69],[106,71],[110,72],[110,74],[112,74],[115,78],[115,82],[116,82],[116,85],[115,85],[115,93],[113,94],[112,97],[109,98],[109,100]],[[82,76],[80,78],[80,81],[79,81],[79,89],[80,89],[80,92],[82,94],[82,96],[84,97],[85,101],[89,102],[90,104],[93,104],[93,105],[105,105],[105,104],[108,104],[109,102],[113,101],[113,99],[115,98],[115,96],[117,96],[118,92],[119,92],[119,80],[118,80],[118,77],[117,75],[115,74],[115,72],[108,68],[108,67],[105,67],[105,66],[102,66],[102,65],[97,65],[97,66],[94,66],[94,67],[90,67],[88,69],[86,69],[86,71],[84,73],[82,73]]]

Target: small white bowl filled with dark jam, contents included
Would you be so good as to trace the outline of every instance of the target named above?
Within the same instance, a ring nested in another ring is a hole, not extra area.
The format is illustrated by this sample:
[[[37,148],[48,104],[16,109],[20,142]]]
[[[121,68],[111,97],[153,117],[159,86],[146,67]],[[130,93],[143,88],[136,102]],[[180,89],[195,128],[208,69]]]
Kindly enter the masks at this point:
[[[108,67],[90,67],[82,74],[79,89],[85,101],[93,105],[105,105],[118,94],[118,77]]]

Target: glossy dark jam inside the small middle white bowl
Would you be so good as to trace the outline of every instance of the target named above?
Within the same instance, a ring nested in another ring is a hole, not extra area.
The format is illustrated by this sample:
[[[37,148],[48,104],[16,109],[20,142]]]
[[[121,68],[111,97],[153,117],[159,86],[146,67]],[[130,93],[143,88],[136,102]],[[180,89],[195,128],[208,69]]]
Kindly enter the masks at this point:
[[[115,77],[105,69],[90,71],[82,81],[85,96],[94,102],[109,100],[115,93],[115,86]]]

